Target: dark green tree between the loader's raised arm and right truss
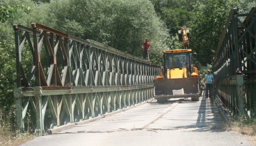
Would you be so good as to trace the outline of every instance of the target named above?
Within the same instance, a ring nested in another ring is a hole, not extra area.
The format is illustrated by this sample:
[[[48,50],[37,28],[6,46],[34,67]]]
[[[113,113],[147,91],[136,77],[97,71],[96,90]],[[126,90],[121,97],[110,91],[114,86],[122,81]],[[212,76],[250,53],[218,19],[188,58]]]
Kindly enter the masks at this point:
[[[236,5],[233,0],[204,0],[203,3],[196,3],[193,11],[196,19],[190,30],[191,46],[202,65],[211,64],[229,11]]]

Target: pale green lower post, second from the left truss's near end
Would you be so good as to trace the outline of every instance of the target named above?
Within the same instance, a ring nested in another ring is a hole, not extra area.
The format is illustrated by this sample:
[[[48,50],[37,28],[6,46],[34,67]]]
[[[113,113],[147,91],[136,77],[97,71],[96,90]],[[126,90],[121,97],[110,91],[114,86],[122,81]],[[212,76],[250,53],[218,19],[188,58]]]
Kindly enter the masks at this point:
[[[42,88],[34,87],[34,96],[35,96],[35,114],[36,114],[36,129],[35,135],[42,136],[44,131],[43,123],[44,119],[42,118]]]

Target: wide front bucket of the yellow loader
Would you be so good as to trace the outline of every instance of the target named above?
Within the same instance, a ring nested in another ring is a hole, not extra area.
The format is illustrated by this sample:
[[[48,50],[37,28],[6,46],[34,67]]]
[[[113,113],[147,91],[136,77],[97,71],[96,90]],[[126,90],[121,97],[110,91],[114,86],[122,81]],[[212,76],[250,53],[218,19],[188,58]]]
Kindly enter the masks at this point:
[[[155,81],[155,99],[199,97],[198,78],[172,78]]]

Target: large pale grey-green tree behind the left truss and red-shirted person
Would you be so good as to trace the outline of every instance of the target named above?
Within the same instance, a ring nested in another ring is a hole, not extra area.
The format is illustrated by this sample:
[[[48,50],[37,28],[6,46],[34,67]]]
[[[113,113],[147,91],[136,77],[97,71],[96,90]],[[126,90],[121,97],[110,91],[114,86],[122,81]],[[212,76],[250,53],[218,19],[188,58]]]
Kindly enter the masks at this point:
[[[166,49],[167,28],[147,0],[64,1],[52,1],[51,17],[58,18],[52,23],[54,28],[136,56],[142,56],[141,44],[146,37],[152,53]]]

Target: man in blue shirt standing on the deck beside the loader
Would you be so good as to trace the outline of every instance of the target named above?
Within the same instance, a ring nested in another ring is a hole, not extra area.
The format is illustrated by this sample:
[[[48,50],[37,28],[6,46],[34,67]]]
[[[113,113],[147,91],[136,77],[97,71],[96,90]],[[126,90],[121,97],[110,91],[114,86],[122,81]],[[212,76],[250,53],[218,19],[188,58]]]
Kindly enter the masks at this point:
[[[214,83],[214,77],[213,74],[210,73],[211,70],[207,70],[207,74],[204,76],[204,84],[205,84],[205,96],[208,98],[208,91],[209,91],[209,97],[211,98],[211,91],[212,91],[212,84]]]

